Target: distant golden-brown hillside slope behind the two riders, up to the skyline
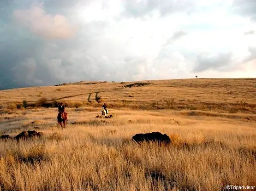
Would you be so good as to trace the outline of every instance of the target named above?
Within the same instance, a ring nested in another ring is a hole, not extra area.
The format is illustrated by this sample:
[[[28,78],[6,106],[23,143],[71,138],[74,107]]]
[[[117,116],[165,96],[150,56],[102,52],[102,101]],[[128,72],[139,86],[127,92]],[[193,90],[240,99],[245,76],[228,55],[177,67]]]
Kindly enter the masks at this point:
[[[101,105],[95,99],[101,97],[101,102],[107,101],[112,108],[256,114],[256,79],[176,79],[150,80],[144,83],[148,82],[150,84],[131,88],[124,86],[133,82],[79,82],[54,87],[2,90],[0,102],[4,106],[21,103],[23,100],[35,103],[40,99],[37,96],[40,94],[48,100],[54,97],[58,101],[75,101],[92,107]]]

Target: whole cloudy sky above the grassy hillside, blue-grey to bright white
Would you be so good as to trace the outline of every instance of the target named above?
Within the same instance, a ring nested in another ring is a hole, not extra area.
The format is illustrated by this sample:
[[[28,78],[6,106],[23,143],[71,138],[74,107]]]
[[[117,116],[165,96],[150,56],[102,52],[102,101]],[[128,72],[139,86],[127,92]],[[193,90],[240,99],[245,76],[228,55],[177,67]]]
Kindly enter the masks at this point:
[[[256,78],[256,0],[0,0],[0,90]]]

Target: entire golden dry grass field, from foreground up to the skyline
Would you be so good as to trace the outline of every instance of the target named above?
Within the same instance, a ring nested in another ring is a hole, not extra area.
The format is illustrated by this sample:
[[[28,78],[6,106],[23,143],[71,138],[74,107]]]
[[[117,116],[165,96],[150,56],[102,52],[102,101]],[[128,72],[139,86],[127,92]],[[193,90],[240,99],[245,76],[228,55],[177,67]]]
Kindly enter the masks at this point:
[[[132,83],[82,81],[1,90],[0,135],[14,137],[35,127],[44,135],[0,140],[0,190],[256,186],[256,79],[149,80],[124,87]],[[42,98],[68,106],[65,129],[57,127],[57,108],[39,107]],[[29,107],[17,109],[24,100]],[[95,118],[103,102],[113,118]],[[169,135],[172,144],[131,141],[137,133],[156,131]]]

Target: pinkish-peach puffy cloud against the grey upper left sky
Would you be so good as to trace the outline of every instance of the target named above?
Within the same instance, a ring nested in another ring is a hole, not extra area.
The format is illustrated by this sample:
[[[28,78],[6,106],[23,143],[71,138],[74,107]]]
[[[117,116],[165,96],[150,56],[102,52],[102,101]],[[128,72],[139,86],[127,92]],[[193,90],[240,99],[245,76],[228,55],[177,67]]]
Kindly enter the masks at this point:
[[[39,36],[47,39],[68,39],[77,32],[63,15],[50,15],[46,13],[42,4],[36,4],[26,10],[13,11],[14,19]]]

